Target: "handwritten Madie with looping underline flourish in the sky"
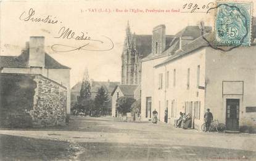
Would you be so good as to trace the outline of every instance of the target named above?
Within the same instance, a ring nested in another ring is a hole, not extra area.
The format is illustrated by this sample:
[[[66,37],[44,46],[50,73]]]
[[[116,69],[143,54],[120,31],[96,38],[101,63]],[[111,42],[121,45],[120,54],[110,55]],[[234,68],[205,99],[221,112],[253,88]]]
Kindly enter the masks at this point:
[[[97,44],[104,44],[105,41],[103,40],[97,40],[97,39],[92,39],[91,36],[85,36],[85,33],[81,31],[81,34],[78,36],[75,31],[72,31],[72,29],[62,27],[59,30],[59,36],[54,37],[56,39],[73,39],[75,41],[86,41],[85,44],[79,45],[79,46],[73,46],[73,45],[64,45],[64,44],[54,44],[51,46],[51,49],[54,52],[72,52],[74,50],[88,50],[88,51],[96,51],[96,52],[103,52],[103,51],[108,51],[112,50],[114,48],[114,43],[113,41],[107,37],[107,36],[101,36],[104,37],[109,43],[110,46],[107,47],[106,49],[90,49],[89,46],[92,44],[92,46],[97,46]],[[88,34],[88,33],[86,33]]]

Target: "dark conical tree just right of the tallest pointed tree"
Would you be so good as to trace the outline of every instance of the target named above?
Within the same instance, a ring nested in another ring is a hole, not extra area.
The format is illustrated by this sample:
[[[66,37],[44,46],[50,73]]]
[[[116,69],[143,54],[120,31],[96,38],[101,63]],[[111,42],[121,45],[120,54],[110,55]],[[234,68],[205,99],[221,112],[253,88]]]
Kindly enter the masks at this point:
[[[107,111],[107,103],[109,103],[109,95],[105,91],[104,87],[101,86],[101,88],[98,88],[95,100],[94,100],[94,105],[97,111],[97,114],[106,114]]]

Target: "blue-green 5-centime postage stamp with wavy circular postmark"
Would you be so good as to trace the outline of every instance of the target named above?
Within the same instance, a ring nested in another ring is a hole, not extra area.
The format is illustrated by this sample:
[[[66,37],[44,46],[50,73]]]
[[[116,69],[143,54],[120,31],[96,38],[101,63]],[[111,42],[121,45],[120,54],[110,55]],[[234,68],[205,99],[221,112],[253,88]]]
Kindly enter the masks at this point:
[[[250,45],[252,3],[217,2],[214,45]]]

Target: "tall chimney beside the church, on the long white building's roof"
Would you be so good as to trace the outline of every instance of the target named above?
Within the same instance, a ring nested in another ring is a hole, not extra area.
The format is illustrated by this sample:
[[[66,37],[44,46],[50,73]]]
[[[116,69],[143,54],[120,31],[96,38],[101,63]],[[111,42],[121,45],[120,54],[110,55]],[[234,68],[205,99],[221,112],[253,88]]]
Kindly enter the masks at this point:
[[[165,50],[165,41],[165,25],[155,26],[153,28],[152,36],[152,53],[162,54],[162,52]]]

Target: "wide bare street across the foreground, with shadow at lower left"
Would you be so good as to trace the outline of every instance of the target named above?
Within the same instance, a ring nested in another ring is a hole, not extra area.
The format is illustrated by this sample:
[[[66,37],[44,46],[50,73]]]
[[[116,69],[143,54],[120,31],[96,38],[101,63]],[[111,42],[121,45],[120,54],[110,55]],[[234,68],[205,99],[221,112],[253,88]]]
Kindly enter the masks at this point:
[[[0,130],[0,160],[255,160],[256,135],[71,117],[66,127]],[[29,156],[29,157],[28,157]]]

